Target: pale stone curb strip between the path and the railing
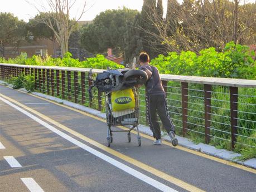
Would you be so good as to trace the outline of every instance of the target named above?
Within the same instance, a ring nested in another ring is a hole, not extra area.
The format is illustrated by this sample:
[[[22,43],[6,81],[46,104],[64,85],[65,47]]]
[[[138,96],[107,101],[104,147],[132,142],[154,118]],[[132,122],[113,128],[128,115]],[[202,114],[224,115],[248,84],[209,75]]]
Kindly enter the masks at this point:
[[[4,82],[4,81],[0,81],[0,84],[7,85],[7,83]],[[8,85],[8,87],[12,88],[12,85]],[[21,88],[20,90],[23,91],[23,92],[27,92],[25,88]],[[56,97],[53,97],[53,96],[45,95],[43,93],[32,92],[31,94],[40,96],[40,97],[45,98],[47,100],[58,102],[59,104],[63,104],[63,105],[69,106],[69,107],[73,107],[74,109],[78,109],[78,110],[87,112],[88,114],[100,117],[102,119],[106,118],[105,113],[102,113],[101,111],[98,111],[98,110],[91,109],[89,107],[85,107],[83,105],[74,104],[73,102],[62,100],[62,99],[59,99],[59,98],[56,98]],[[152,131],[149,129],[148,126],[139,125],[138,127],[139,127],[139,132],[142,132],[143,134],[147,134],[149,136],[153,136]],[[162,136],[163,140],[170,141],[170,137],[168,135],[166,135],[166,133],[162,132],[162,135],[163,135]],[[236,160],[235,157],[239,157],[239,156],[241,156],[241,154],[238,154],[238,153],[235,153],[235,152],[232,152],[232,151],[228,151],[228,150],[225,150],[225,149],[217,149],[214,146],[206,145],[206,144],[202,144],[202,143],[195,144],[194,142],[192,142],[191,140],[189,140],[185,137],[180,137],[180,136],[176,136],[176,137],[178,139],[178,144],[180,146],[183,146],[183,147],[186,147],[188,149],[195,150],[195,151],[200,151],[200,152],[202,152],[204,154],[207,154],[207,155],[215,156],[215,157],[218,157],[220,159],[224,159],[224,160],[227,160],[227,161],[231,161],[231,162],[234,162],[234,163],[237,163],[237,164],[241,164],[241,165],[248,166],[250,168],[256,169],[256,158],[249,159],[249,160],[246,160],[246,161],[239,161],[239,160]]]

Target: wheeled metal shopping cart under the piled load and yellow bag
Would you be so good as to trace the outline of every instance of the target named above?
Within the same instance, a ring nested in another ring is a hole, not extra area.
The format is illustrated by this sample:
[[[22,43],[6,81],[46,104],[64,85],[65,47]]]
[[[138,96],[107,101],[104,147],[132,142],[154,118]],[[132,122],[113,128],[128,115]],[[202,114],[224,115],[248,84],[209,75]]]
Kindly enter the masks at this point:
[[[141,136],[139,136],[138,129],[138,119],[139,119],[139,92],[138,88],[132,88],[135,99],[134,109],[127,109],[124,111],[113,111],[112,102],[111,102],[111,93],[105,94],[106,99],[106,117],[108,125],[108,135],[107,135],[107,146],[110,146],[110,143],[113,142],[113,132],[128,132],[127,139],[128,142],[131,142],[131,131],[136,127],[137,128],[137,139],[138,146],[141,146]],[[124,126],[125,130],[112,130],[112,126]],[[126,130],[127,129],[127,130]]]

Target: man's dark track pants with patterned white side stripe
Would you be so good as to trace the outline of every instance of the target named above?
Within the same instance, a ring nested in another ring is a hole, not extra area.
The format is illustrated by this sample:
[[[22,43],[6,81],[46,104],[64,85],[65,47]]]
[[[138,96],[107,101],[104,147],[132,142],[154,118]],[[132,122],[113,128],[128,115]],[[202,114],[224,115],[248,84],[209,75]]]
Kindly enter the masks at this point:
[[[157,122],[157,114],[160,117],[163,127],[169,133],[175,131],[175,126],[168,113],[167,100],[165,95],[146,95],[148,125],[156,139],[161,139],[161,129]]]

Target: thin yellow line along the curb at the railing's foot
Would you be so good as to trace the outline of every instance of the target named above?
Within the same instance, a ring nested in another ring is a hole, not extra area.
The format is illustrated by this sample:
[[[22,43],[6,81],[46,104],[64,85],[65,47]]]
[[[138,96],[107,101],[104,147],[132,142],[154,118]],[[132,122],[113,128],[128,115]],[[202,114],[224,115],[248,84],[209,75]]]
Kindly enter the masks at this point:
[[[17,91],[20,91],[20,90],[17,90]],[[23,92],[23,91],[20,91],[20,92],[26,93],[26,92]],[[28,95],[33,96],[33,97],[37,97],[38,99],[42,99],[42,100],[45,100],[45,101],[49,101],[49,102],[51,102],[52,104],[59,105],[59,106],[61,106],[61,107],[65,107],[66,109],[73,110],[73,111],[75,111],[75,112],[79,112],[80,114],[85,115],[85,116],[89,116],[89,117],[91,117],[91,118],[93,118],[93,119],[96,119],[96,120],[99,120],[99,121],[102,121],[102,122],[106,122],[106,120],[104,120],[104,119],[102,119],[102,118],[100,118],[100,117],[97,117],[97,116],[88,114],[87,112],[80,111],[80,110],[74,109],[74,108],[72,108],[72,107],[59,104],[59,103],[57,103],[57,102],[55,102],[55,101],[47,100],[47,99],[42,98],[42,97],[37,96],[37,95],[32,95],[32,94],[30,94],[30,93],[28,93]],[[118,127],[119,127],[120,129],[126,129],[126,130],[127,130],[126,127],[123,127],[123,126],[118,126]],[[132,131],[132,132],[133,132],[133,134],[137,134],[136,131]],[[141,135],[141,136],[144,137],[144,138],[147,138],[147,139],[150,139],[150,140],[154,140],[154,138],[153,138],[152,136],[149,136],[149,135],[146,135],[146,134],[143,134],[143,133],[140,133],[139,135]],[[162,143],[165,144],[165,145],[168,145],[168,146],[173,147],[170,142],[163,141]],[[231,161],[227,161],[227,160],[224,160],[224,159],[220,159],[220,158],[218,158],[218,157],[210,156],[210,155],[207,155],[207,154],[204,154],[204,153],[202,153],[202,152],[195,151],[195,150],[192,150],[192,149],[187,149],[186,147],[182,147],[182,146],[176,146],[175,148],[176,148],[176,149],[179,149],[179,150],[182,150],[182,151],[189,152],[189,153],[194,154],[194,155],[197,155],[197,156],[204,157],[204,158],[206,158],[206,159],[210,159],[210,160],[212,160],[212,161],[217,161],[218,163],[221,163],[221,164],[233,166],[233,167],[235,167],[235,168],[237,168],[237,169],[241,169],[241,170],[244,170],[244,171],[249,171],[250,173],[256,174],[256,170],[255,170],[255,169],[248,168],[248,167],[246,167],[246,166],[244,166],[244,165],[236,164],[236,163],[233,163],[233,162],[231,162]]]

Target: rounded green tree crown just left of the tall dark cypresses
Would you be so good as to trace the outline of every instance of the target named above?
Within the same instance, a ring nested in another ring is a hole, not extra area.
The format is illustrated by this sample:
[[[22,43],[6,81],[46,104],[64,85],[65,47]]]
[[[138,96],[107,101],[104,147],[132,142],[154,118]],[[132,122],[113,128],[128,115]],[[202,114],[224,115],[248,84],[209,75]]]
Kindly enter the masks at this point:
[[[127,29],[133,26],[138,13],[125,7],[100,13],[93,23],[83,27],[81,45],[93,53],[104,53],[112,48],[115,54],[124,55]]]

